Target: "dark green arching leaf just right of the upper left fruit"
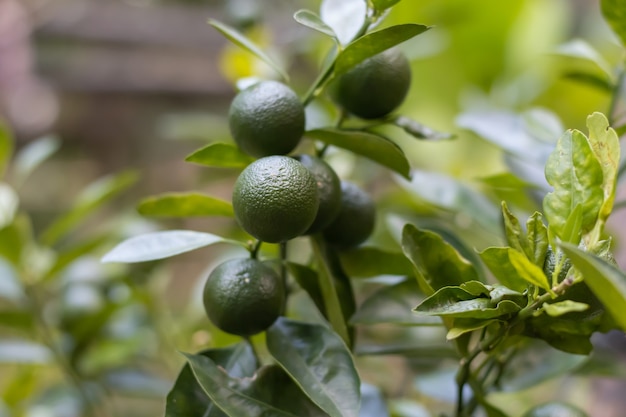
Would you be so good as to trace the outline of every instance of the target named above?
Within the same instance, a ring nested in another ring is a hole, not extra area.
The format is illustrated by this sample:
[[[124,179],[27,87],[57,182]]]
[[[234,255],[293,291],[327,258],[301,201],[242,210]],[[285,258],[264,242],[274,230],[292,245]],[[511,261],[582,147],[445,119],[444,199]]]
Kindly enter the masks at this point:
[[[307,137],[320,140],[365,156],[405,178],[410,177],[411,166],[406,155],[391,140],[358,130],[316,129],[305,133]]]

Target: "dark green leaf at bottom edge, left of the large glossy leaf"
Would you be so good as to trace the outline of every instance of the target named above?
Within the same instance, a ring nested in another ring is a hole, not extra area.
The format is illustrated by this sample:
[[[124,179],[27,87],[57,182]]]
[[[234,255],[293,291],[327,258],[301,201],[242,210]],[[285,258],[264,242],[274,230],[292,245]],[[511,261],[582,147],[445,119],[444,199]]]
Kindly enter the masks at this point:
[[[245,390],[254,383],[253,379],[233,378],[206,356],[185,356],[204,392],[227,416],[298,417],[246,393]],[[197,411],[192,415],[196,414]]]

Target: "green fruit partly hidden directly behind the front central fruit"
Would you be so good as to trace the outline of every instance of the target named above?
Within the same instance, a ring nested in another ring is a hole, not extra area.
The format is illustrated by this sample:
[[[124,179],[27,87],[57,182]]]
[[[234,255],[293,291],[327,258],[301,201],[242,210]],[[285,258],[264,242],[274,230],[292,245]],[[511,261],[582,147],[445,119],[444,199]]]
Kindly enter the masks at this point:
[[[339,214],[341,180],[331,166],[321,158],[311,155],[298,155],[295,158],[313,174],[317,184],[320,205],[315,220],[306,234],[317,233],[328,226]]]

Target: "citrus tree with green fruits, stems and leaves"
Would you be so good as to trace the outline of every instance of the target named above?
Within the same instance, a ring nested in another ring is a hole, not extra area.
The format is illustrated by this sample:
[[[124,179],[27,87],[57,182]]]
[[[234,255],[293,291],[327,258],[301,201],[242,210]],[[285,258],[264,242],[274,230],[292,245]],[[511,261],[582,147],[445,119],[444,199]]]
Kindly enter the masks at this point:
[[[570,371],[591,353],[594,333],[626,329],[626,277],[605,227],[623,173],[618,132],[624,127],[615,126],[616,109],[608,109],[608,117],[591,114],[585,132],[562,129],[547,111],[523,118],[463,113],[460,126],[507,152],[510,172],[485,183],[508,190],[511,201],[419,171],[386,134],[389,128],[418,140],[452,138],[397,112],[411,82],[411,66],[398,46],[437,30],[416,23],[384,26],[397,3],[326,0],[319,14],[295,12],[298,23],[333,44],[300,96],[261,47],[233,27],[209,21],[277,78],[240,80],[228,115],[234,143],[211,143],[187,157],[239,170],[232,202],[189,192],[151,197],[139,209],[154,216],[230,216],[246,237],[166,230],[134,236],[103,258],[134,263],[214,244],[239,248],[238,256],[209,274],[203,302],[215,327],[242,340],[185,352],[166,416],[427,415],[419,402],[410,409],[388,405],[381,390],[362,378],[367,364],[359,358],[368,355],[418,357],[412,366],[421,374],[453,361],[452,372],[436,370],[454,384],[447,415],[518,415],[498,402],[498,391]],[[623,42],[625,9],[623,1],[602,2]],[[616,102],[623,68],[615,71],[606,79],[590,73],[577,78],[600,85]],[[309,120],[314,112],[325,116],[322,122]],[[509,140],[503,125],[516,140],[520,131],[513,129],[521,130],[527,143]],[[474,250],[441,222],[407,221],[402,213],[410,206],[387,205],[381,214],[365,178],[342,178],[333,168],[329,156],[337,152],[373,161],[409,195],[440,213],[469,213],[500,235]],[[522,169],[520,160],[528,162],[529,153],[532,163]],[[374,239],[377,230],[381,236]],[[396,278],[384,279],[389,276]],[[377,277],[378,286],[360,291],[365,286],[354,277]],[[302,294],[314,314],[292,302]],[[376,334],[379,325],[393,325],[393,331]],[[535,364],[540,374],[525,366],[533,357],[546,358]],[[556,402],[523,411],[585,415]]]

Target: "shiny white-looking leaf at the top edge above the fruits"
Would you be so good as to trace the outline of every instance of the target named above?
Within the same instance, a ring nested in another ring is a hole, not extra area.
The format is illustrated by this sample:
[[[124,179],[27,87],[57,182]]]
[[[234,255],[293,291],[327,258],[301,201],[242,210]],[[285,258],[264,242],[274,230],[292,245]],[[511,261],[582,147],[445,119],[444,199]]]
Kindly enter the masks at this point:
[[[365,23],[367,4],[363,0],[324,0],[322,20],[333,29],[341,44],[350,43]]]

